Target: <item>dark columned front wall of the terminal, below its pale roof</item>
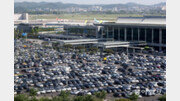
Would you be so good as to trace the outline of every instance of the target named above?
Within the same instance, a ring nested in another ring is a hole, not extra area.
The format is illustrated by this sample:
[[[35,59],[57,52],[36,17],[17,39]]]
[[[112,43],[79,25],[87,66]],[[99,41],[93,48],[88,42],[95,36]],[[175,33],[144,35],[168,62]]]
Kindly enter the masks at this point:
[[[165,27],[104,26],[101,30],[101,35],[98,35],[101,38],[113,38],[115,41],[146,41],[149,46],[157,50],[166,47]]]

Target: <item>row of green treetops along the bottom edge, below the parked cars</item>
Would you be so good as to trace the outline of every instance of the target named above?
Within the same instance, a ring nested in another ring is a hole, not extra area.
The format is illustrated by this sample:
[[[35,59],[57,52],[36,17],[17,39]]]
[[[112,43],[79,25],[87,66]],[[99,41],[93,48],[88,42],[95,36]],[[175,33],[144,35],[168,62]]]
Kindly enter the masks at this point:
[[[14,96],[14,101],[104,101],[107,97],[105,91],[96,92],[93,95],[78,94],[73,96],[69,91],[61,91],[59,95],[53,97],[37,97],[37,90],[30,89],[26,94]],[[137,101],[138,95],[133,93],[129,98],[115,99],[115,101]],[[165,101],[165,100],[160,100]]]

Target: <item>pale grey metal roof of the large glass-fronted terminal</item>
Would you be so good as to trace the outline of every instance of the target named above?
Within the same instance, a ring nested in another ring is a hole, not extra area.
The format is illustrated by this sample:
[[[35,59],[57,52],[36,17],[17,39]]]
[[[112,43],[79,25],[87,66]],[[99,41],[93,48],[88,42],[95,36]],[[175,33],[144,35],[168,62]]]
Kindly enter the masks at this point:
[[[116,22],[94,23],[94,25],[121,25],[121,26],[147,26],[166,27],[166,17],[164,16],[144,16],[144,17],[119,17]]]

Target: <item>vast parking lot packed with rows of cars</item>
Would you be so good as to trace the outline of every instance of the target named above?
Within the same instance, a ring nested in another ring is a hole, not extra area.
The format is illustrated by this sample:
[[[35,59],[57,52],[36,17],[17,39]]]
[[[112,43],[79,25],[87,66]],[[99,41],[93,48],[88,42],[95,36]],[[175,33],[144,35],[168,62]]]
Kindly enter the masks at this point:
[[[61,91],[72,95],[106,91],[113,97],[158,96],[166,93],[166,57],[100,53],[59,52],[39,42],[16,40],[14,45],[14,94],[38,89],[38,95]]]

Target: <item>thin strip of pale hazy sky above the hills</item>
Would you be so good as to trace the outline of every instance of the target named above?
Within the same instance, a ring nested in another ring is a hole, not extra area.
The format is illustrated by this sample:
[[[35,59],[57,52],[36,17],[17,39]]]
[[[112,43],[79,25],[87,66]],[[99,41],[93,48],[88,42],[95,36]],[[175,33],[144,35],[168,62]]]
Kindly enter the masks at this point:
[[[134,2],[139,4],[157,4],[160,2],[166,2],[166,0],[14,0],[15,2],[63,2],[63,3],[76,3],[76,4],[116,4],[116,3],[128,3]]]

